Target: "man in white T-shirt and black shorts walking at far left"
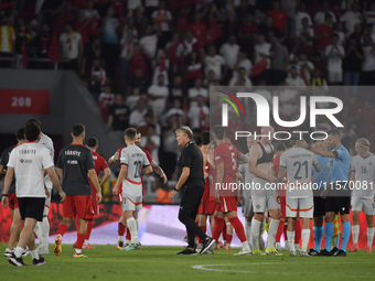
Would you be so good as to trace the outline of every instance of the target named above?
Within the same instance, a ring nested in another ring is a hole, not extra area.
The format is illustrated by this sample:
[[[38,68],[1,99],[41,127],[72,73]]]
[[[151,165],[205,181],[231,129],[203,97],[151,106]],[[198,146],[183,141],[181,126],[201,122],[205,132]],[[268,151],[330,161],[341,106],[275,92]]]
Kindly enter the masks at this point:
[[[15,251],[8,261],[17,267],[25,266],[22,260],[22,253],[26,246],[31,250],[33,266],[45,263],[44,258],[40,257],[35,249],[33,229],[36,221],[42,221],[45,195],[49,192],[43,183],[43,170],[50,175],[52,183],[56,186],[62,201],[65,199],[65,193],[62,191],[56,173],[53,170],[53,162],[49,151],[38,144],[41,129],[35,123],[25,127],[25,137],[28,142],[14,148],[8,162],[8,171],[4,182],[4,192],[1,203],[7,208],[9,205],[8,191],[15,176],[15,193],[19,202],[21,219],[24,221],[20,235],[20,241]]]

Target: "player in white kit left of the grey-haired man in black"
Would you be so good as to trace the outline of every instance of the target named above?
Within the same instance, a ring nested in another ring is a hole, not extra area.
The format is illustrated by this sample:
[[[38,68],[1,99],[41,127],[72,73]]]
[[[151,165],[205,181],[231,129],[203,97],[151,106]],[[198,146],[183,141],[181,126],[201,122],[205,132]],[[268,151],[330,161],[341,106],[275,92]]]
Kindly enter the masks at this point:
[[[131,244],[120,250],[140,249],[138,239],[139,225],[135,215],[142,208],[142,182],[141,174],[152,173],[152,167],[146,153],[136,145],[137,130],[128,128],[125,130],[127,147],[120,155],[121,171],[118,175],[114,194],[117,195],[118,187],[122,182],[122,216],[120,223],[130,229]],[[146,167],[142,170],[142,167]]]

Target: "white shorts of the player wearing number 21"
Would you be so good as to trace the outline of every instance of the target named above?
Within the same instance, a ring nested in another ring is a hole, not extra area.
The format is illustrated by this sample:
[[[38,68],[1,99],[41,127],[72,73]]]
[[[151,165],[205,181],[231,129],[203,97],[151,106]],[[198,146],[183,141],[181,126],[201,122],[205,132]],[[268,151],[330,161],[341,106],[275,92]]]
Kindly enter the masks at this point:
[[[287,217],[307,217],[313,218],[314,201],[313,196],[304,198],[290,198],[287,196]]]

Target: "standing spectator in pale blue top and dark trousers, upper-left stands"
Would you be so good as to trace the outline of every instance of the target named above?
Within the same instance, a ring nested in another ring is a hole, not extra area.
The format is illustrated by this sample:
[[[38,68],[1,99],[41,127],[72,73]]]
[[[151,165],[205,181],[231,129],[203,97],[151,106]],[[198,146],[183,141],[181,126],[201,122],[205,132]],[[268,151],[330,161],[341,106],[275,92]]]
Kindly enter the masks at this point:
[[[114,7],[109,7],[107,14],[101,19],[103,33],[103,54],[106,62],[106,71],[110,79],[115,78],[115,71],[118,62],[119,41],[117,35],[117,28],[119,21],[115,18]]]

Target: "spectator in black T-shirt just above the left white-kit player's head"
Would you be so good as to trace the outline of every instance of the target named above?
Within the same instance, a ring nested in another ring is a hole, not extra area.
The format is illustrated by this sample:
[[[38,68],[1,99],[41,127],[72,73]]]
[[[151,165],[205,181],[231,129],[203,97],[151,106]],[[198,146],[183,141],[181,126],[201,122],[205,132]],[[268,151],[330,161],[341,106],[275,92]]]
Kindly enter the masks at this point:
[[[117,94],[115,97],[115,104],[109,107],[108,110],[108,122],[106,133],[110,129],[124,134],[124,131],[129,127],[130,109],[124,105],[122,96]],[[122,137],[122,136],[121,136]]]

